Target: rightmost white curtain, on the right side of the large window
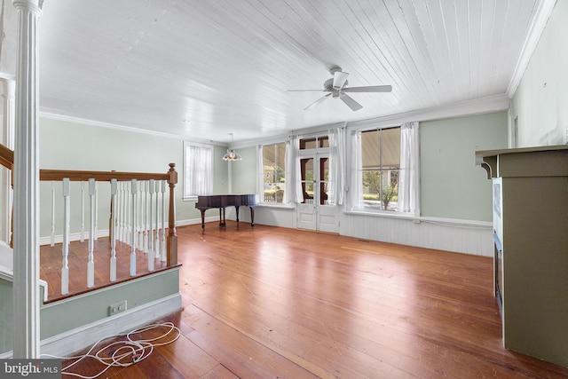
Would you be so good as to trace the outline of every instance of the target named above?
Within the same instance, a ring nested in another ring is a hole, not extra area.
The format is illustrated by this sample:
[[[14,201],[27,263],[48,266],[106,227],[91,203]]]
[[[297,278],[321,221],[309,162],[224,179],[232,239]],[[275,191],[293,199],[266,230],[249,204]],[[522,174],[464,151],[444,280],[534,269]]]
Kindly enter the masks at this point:
[[[420,216],[420,148],[418,122],[400,126],[400,173],[397,210]]]

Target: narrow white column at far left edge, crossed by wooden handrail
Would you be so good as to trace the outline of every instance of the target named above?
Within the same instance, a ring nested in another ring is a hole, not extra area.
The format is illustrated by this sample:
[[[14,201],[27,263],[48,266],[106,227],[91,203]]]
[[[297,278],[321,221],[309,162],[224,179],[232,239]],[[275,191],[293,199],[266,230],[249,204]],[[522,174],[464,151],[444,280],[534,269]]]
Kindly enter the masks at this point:
[[[4,146],[14,148],[14,92],[16,91],[16,82],[13,78],[0,78],[4,85],[2,93],[4,114],[3,123],[4,130],[2,141]],[[11,220],[12,220],[12,178],[8,169],[2,168],[2,235],[0,238],[6,243],[10,243]]]

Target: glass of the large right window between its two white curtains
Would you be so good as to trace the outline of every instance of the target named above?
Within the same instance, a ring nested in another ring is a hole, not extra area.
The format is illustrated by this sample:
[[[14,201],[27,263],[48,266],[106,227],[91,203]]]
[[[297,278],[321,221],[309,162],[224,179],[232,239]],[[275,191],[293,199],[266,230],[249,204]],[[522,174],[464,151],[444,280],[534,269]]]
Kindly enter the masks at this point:
[[[361,132],[362,203],[396,210],[400,170],[400,128]]]

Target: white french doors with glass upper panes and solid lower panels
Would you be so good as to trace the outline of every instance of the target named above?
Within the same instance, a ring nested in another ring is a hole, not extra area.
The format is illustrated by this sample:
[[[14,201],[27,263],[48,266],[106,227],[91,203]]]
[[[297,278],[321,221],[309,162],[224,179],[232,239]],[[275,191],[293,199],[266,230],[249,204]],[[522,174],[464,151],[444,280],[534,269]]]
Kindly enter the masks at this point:
[[[297,206],[298,228],[337,233],[337,207],[327,203],[329,154],[303,154],[299,159],[304,202]]]

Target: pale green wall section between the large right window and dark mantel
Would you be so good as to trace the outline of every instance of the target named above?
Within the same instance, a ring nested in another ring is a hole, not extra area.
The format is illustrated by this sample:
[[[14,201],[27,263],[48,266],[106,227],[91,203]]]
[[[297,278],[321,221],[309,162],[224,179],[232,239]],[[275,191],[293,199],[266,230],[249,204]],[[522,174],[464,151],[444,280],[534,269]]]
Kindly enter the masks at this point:
[[[477,150],[507,147],[507,112],[420,123],[424,217],[492,221],[492,187]]]

